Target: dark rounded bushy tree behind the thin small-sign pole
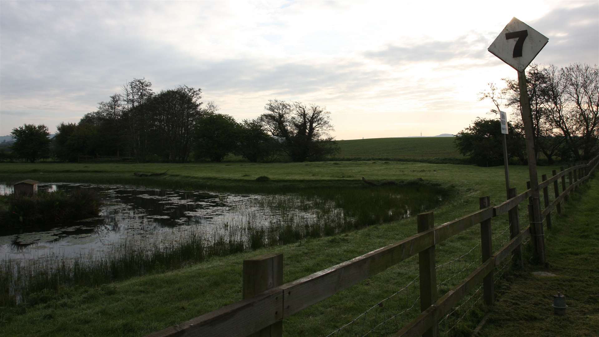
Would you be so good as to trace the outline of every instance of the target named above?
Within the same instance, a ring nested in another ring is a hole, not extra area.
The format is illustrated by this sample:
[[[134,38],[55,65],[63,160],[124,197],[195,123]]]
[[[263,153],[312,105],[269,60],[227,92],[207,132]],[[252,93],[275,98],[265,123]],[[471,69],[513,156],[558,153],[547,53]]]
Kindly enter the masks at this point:
[[[508,131],[508,159],[520,157],[519,152],[525,148],[524,136],[511,123],[508,123]],[[501,122],[498,119],[478,118],[456,134],[455,144],[462,155],[470,157],[478,166],[498,166],[503,164],[501,138]]]

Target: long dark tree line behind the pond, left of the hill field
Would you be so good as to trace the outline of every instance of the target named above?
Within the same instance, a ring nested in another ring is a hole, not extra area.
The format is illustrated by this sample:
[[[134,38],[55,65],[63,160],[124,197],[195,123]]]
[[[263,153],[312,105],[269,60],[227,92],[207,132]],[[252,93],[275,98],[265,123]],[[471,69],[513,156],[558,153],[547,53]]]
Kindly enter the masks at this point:
[[[222,161],[229,154],[252,162],[311,161],[337,151],[323,107],[270,100],[258,118],[238,122],[201,99],[199,88],[156,94],[149,80],[134,79],[78,123],[60,123],[53,139],[45,125],[14,128],[11,149],[31,162],[107,156],[138,163]]]

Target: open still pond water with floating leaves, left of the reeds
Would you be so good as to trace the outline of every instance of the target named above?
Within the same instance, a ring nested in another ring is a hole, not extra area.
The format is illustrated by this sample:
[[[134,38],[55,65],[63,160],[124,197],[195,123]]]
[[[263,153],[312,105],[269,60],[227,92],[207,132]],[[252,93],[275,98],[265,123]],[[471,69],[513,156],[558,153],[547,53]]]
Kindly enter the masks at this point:
[[[0,236],[0,260],[102,255],[119,240],[177,240],[188,233],[210,239],[219,230],[244,224],[268,225],[273,219],[295,216],[313,219],[306,207],[269,207],[273,195],[207,191],[171,191],[123,185],[40,183],[39,190],[94,188],[103,192],[98,217],[59,225],[46,231]],[[0,194],[12,193],[0,183]],[[292,195],[281,195],[292,198]],[[304,205],[305,206],[305,205]],[[304,210],[301,210],[302,208]],[[342,210],[338,209],[338,212]]]

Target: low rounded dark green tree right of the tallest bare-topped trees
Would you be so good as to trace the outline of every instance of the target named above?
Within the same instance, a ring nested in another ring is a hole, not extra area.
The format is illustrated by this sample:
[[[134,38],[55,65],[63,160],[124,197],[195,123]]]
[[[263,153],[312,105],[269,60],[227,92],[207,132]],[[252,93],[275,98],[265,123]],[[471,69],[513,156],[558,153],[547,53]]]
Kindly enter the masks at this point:
[[[240,125],[222,113],[206,113],[195,125],[195,158],[222,161],[237,150]]]

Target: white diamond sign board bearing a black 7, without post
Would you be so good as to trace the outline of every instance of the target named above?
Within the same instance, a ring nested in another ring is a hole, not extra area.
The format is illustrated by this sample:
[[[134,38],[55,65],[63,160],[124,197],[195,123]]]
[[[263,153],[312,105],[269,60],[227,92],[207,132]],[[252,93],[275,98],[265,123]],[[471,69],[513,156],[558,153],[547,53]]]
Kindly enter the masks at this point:
[[[515,17],[495,38],[488,50],[518,71],[533,62],[549,39]]]

